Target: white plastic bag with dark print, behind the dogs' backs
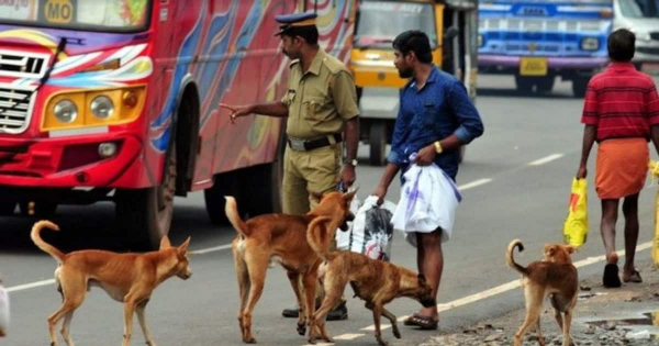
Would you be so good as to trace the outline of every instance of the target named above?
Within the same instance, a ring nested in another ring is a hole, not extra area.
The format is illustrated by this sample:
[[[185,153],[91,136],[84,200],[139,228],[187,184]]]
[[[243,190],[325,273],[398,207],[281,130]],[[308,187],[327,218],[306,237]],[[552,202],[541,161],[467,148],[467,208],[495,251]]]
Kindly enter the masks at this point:
[[[390,260],[393,226],[391,216],[395,204],[384,201],[378,207],[378,198],[368,197],[355,213],[347,242],[339,249],[364,254],[369,258]]]

